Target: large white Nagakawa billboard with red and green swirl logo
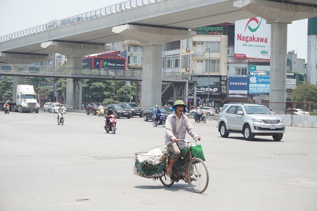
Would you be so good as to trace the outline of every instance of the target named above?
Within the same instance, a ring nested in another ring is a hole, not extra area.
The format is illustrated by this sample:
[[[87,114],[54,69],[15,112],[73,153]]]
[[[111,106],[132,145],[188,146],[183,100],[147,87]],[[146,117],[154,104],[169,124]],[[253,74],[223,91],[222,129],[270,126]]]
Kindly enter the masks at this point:
[[[261,17],[235,21],[235,58],[269,59],[271,26]]]

